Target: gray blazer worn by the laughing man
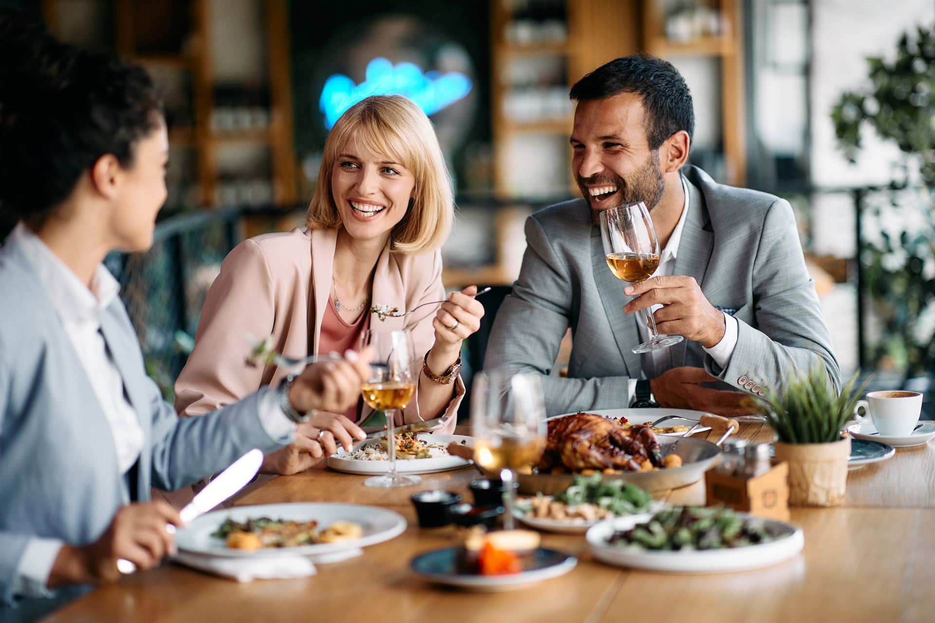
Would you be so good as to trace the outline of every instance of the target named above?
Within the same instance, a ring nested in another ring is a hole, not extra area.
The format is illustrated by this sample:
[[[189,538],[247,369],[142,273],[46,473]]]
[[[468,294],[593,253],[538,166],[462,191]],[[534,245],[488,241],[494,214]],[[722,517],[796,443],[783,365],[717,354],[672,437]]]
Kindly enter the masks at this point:
[[[669,367],[703,366],[730,389],[765,393],[783,389],[793,367],[819,362],[840,389],[792,208],[764,192],[718,184],[698,167],[683,171],[690,201],[673,275],[694,276],[739,329],[726,368],[687,340],[669,348]],[[526,220],[525,234],[523,267],[497,313],[484,367],[547,375],[550,415],[626,406],[628,379],[640,377],[640,355],[631,352],[640,343],[636,320],[623,312],[632,297],[607,267],[588,206],[577,199],[540,210]],[[559,378],[550,374],[568,327],[568,378]]]

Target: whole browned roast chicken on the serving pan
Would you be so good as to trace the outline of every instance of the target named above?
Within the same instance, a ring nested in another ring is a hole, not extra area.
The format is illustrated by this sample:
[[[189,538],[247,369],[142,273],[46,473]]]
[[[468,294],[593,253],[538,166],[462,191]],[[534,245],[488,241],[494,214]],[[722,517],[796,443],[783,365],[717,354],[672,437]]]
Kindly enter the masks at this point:
[[[624,429],[609,418],[576,413],[549,420],[545,452],[537,468],[540,473],[559,465],[573,471],[610,468],[639,472],[647,459],[655,467],[663,466],[662,450],[652,428],[634,425]]]

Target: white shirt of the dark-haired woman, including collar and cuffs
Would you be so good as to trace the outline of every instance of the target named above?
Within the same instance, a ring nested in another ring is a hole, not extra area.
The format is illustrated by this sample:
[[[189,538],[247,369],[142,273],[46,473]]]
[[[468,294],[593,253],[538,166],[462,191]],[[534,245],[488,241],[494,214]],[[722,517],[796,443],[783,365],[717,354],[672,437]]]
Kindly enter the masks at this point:
[[[94,396],[108,419],[120,473],[126,474],[139,458],[145,441],[143,429],[137,411],[123,391],[120,370],[100,332],[101,317],[120,291],[120,283],[104,264],[99,264],[89,290],[65,262],[22,222],[9,234],[7,245],[21,248],[36,271],[40,285],[49,294],[94,389]],[[261,391],[260,422],[264,430],[273,439],[288,439],[295,430],[295,423],[277,404],[275,390],[264,388]],[[20,560],[13,592],[24,597],[50,597],[46,583],[62,545],[64,542],[59,539],[30,539]]]

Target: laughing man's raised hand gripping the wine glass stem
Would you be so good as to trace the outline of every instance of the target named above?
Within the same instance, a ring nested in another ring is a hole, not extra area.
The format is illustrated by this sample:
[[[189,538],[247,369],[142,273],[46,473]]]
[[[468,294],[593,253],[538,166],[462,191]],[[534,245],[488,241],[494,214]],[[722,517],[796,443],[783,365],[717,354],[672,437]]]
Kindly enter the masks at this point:
[[[636,297],[624,305],[627,314],[663,305],[653,314],[659,333],[684,335],[707,348],[716,346],[724,337],[724,312],[708,301],[695,277],[654,276],[627,286],[624,293]]]

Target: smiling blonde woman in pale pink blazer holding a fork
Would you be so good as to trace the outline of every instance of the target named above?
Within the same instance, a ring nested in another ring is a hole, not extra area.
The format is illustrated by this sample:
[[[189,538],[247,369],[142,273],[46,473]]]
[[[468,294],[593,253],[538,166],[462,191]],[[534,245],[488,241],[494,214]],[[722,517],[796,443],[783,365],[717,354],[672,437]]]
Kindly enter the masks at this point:
[[[439,247],[451,230],[453,196],[431,122],[405,97],[374,95],[351,106],[324,146],[306,229],[264,234],[239,244],[224,260],[198,324],[195,347],[176,382],[182,415],[236,402],[289,370],[244,364],[243,335],[272,335],[291,357],[342,353],[356,347],[370,322],[408,329],[424,354],[417,400],[406,421],[454,413],[464,396],[458,375],[461,341],[480,327],[483,307],[471,286],[448,296],[435,314],[381,322],[369,313],[400,311],[445,299]],[[374,328],[377,328],[376,326]],[[354,424],[360,401],[344,415],[318,414],[295,443],[266,457],[264,471],[295,474],[337,444],[363,438]],[[445,432],[453,430],[454,421]]]

